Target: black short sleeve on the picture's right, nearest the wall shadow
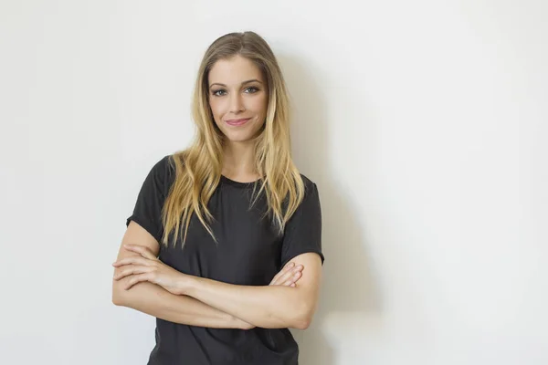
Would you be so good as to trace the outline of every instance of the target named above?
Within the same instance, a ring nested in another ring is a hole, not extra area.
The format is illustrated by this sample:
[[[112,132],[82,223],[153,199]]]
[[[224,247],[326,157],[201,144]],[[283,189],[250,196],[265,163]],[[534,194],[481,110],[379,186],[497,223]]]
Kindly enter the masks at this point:
[[[306,177],[304,199],[295,213],[286,224],[282,247],[281,267],[285,266],[293,257],[314,252],[324,257],[321,252],[321,206],[318,188]]]

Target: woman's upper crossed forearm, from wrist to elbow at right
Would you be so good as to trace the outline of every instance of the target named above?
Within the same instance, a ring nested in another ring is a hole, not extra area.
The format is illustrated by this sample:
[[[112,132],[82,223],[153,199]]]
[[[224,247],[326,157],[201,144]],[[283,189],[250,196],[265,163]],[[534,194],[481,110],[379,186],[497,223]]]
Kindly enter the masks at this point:
[[[261,328],[307,328],[312,300],[293,287],[249,287],[187,276],[184,294]]]

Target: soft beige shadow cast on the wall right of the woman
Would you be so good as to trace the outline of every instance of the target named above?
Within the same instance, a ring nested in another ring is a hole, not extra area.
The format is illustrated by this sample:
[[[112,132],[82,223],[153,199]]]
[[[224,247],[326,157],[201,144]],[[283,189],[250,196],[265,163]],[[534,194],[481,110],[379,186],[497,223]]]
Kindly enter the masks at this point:
[[[344,120],[328,120],[330,103],[322,91],[328,88],[329,80],[322,79],[320,72],[314,72],[313,65],[280,56],[278,59],[292,104],[293,158],[300,172],[318,185],[325,255],[320,303],[313,324],[306,331],[293,333],[300,344],[300,364],[332,365],[335,356],[326,337],[329,334],[321,331],[329,317],[381,312],[380,295],[369,265],[370,257],[365,252],[364,227],[356,219],[355,205],[345,201],[347,198],[341,191],[342,187],[337,186],[333,176],[328,123],[337,124],[332,129],[351,129],[352,126]],[[336,92],[333,89],[329,91]],[[360,161],[360,157],[348,155],[347,160]],[[356,168],[363,167],[356,165]],[[329,324],[332,326],[332,321]]]

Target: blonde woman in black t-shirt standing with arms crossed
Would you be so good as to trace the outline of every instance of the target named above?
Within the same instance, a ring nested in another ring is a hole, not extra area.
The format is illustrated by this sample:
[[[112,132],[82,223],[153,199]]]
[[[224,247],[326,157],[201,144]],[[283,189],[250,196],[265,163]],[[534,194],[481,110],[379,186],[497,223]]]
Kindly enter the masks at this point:
[[[156,317],[149,364],[297,364],[321,281],[318,190],[290,156],[276,57],[253,32],[206,50],[197,135],[149,172],[112,299]]]

